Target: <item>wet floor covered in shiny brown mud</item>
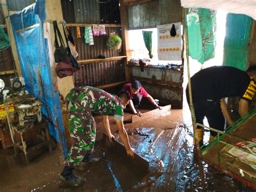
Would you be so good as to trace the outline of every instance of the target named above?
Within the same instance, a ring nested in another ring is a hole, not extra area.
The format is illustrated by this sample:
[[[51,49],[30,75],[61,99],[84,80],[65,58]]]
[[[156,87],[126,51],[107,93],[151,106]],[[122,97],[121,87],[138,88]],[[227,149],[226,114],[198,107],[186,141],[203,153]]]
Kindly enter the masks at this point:
[[[172,109],[133,124],[130,118],[126,112],[126,131],[135,151],[150,162],[149,172],[133,166],[124,152],[104,146],[100,141],[103,124],[96,116],[98,135],[93,156],[100,160],[76,169],[86,179],[83,186],[70,187],[59,180],[63,159],[58,149],[52,154],[46,150],[26,166],[10,148],[0,154],[0,191],[253,191],[197,159],[189,110]],[[110,124],[119,140],[112,118]]]

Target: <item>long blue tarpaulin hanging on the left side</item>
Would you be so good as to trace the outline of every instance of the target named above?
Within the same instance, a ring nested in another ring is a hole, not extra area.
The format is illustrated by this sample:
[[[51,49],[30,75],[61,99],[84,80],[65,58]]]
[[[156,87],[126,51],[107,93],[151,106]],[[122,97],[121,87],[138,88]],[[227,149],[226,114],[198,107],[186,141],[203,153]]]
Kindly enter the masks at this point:
[[[45,18],[44,0],[10,16],[26,90],[43,102],[42,113],[51,121],[50,134],[61,144],[66,157],[68,148],[59,92],[53,90],[48,43],[43,34]]]

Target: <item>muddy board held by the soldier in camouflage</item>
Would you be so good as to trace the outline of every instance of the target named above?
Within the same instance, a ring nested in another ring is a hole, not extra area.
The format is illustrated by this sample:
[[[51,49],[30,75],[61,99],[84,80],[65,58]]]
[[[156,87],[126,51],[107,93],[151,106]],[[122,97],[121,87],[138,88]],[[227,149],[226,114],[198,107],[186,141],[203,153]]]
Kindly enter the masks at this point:
[[[132,157],[126,154],[126,149],[122,143],[117,140],[113,140],[111,142],[109,140],[109,136],[105,133],[103,133],[103,142],[105,146],[112,147],[111,150],[115,150],[119,155],[124,155],[127,157],[127,163],[132,164],[133,167],[138,169],[141,173],[146,174],[149,172],[149,161],[147,161],[144,157],[134,152],[134,157],[132,159]]]

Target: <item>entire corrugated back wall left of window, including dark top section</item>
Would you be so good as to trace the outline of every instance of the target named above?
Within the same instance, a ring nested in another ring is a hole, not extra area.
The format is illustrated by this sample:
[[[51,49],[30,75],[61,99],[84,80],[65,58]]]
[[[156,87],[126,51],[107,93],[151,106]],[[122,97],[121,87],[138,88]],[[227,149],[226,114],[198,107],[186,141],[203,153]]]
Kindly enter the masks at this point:
[[[73,9],[73,10],[72,10]],[[118,0],[99,4],[95,0],[67,1],[62,0],[63,17],[66,23],[120,23]],[[67,10],[67,11],[65,11]],[[99,54],[106,57],[123,56],[123,51],[109,50],[106,47],[110,33],[117,33],[122,37],[121,28],[106,28],[107,35],[93,36],[95,45],[85,44],[84,27],[80,27],[77,38],[77,28],[70,27],[75,38],[76,50],[79,54],[77,60],[96,59]],[[107,61],[102,63],[85,64],[73,76],[75,86],[100,86],[125,80],[125,65],[123,60]]]

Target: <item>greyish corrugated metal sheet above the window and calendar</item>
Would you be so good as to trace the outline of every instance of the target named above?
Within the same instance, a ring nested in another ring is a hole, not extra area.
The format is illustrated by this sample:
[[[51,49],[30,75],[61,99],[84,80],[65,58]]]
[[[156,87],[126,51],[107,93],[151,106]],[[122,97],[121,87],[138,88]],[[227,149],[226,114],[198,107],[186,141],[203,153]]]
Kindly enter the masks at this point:
[[[129,29],[156,28],[157,25],[181,22],[180,1],[158,0],[128,8]]]

